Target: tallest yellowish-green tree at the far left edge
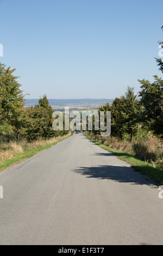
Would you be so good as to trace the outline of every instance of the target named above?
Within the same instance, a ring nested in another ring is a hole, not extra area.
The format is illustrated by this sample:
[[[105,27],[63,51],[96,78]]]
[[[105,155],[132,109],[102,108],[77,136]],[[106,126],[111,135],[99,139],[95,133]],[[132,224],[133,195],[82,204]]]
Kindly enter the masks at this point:
[[[23,123],[24,95],[21,84],[17,82],[18,77],[12,75],[14,71],[0,63],[0,134],[16,134]]]

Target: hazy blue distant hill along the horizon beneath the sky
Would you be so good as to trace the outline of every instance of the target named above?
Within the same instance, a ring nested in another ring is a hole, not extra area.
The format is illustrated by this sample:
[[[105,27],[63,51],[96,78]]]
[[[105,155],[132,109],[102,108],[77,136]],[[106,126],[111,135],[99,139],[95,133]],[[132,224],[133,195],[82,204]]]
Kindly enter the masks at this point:
[[[72,106],[72,105],[104,105],[106,102],[110,104],[114,99],[48,99],[51,106]],[[25,106],[34,106],[39,104],[39,99],[26,99]]]

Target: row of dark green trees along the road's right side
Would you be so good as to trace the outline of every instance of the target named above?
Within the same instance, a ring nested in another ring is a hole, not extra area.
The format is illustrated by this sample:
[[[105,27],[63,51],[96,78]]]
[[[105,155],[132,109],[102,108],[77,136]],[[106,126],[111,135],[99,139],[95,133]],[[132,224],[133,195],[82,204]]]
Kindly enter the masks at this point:
[[[155,82],[140,81],[139,96],[134,88],[127,88],[126,93],[116,97],[112,105],[106,103],[99,111],[111,111],[111,136],[120,139],[146,136],[149,133],[157,137],[163,135],[163,81],[155,76]],[[93,131],[99,133],[99,131]]]

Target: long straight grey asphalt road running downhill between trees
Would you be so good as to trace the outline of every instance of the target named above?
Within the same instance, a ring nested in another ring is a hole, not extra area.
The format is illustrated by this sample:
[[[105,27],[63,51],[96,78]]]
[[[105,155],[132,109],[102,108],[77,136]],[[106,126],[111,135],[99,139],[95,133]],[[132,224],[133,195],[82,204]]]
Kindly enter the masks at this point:
[[[0,173],[0,245],[162,245],[158,187],[83,134]]]

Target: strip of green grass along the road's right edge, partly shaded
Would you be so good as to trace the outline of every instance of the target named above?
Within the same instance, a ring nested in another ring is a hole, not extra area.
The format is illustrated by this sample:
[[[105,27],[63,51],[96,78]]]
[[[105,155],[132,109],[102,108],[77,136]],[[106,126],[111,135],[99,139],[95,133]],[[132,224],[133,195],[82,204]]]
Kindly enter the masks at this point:
[[[88,139],[90,139],[90,141],[92,141],[93,143],[95,143],[96,145],[101,147],[102,149],[107,150],[110,153],[116,155],[118,157],[118,159],[121,159],[121,160],[126,161],[127,163],[131,164],[131,167],[134,168],[136,172],[140,172],[142,174],[147,175],[149,178],[154,180],[156,182],[156,184],[158,184],[158,185],[163,185],[162,170],[154,168],[149,163],[147,163],[145,161],[141,161],[139,159],[136,159],[136,157],[134,157],[128,153],[124,153],[122,151],[109,148],[108,146],[105,146],[104,144],[99,143],[98,141],[95,141],[95,139],[92,139],[90,136],[88,136],[86,134],[85,134],[85,136]]]

